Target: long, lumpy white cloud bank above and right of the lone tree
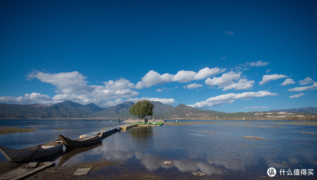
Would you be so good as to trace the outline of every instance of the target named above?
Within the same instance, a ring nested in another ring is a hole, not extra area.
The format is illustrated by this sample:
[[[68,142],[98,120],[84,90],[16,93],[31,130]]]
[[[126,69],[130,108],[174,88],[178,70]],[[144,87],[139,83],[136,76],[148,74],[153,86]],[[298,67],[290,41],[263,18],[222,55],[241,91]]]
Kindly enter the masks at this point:
[[[171,75],[165,73],[160,75],[158,72],[150,70],[144,77],[141,78],[141,81],[137,82],[135,88],[141,89],[146,87],[151,87],[156,84],[163,84],[169,82],[190,82],[193,80],[201,80],[206,77],[214,76],[218,73],[223,72],[225,69],[220,68],[212,68],[209,69],[208,67],[201,69],[197,72],[194,71],[185,71],[181,70],[178,71],[176,75]]]

